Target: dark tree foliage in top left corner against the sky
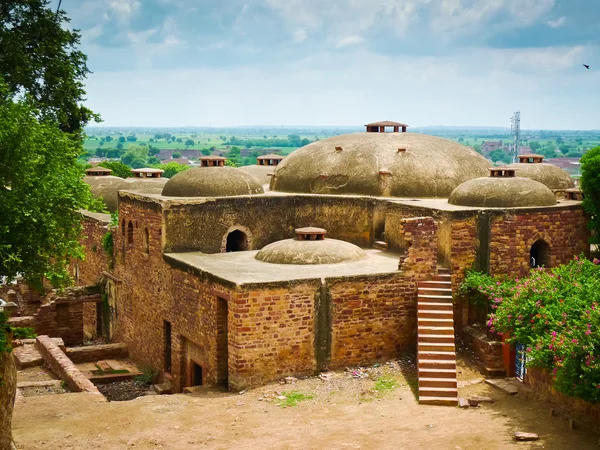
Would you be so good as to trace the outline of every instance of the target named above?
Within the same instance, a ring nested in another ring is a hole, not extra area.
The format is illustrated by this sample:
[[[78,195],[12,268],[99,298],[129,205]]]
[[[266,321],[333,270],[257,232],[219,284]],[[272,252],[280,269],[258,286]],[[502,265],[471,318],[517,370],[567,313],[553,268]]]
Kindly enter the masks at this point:
[[[64,11],[49,0],[0,2],[0,74],[5,96],[27,94],[40,118],[54,120],[62,131],[80,134],[99,119],[81,102],[83,80],[90,73],[87,57],[78,50],[81,36],[67,29]]]

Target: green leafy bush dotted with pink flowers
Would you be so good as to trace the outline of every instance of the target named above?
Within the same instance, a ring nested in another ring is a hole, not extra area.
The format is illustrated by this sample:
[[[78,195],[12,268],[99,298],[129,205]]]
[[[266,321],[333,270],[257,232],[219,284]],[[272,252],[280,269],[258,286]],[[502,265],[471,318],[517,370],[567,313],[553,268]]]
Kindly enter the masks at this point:
[[[550,369],[558,391],[600,402],[600,261],[514,280],[469,272],[461,290],[489,301],[490,331],[524,344],[527,366]]]

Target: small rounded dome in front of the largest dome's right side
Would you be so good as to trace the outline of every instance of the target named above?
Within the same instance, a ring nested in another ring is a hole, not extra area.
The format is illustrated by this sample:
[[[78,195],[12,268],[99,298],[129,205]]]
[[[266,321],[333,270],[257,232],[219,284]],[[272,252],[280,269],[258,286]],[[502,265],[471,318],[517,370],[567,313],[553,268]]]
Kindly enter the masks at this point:
[[[485,208],[552,206],[556,198],[548,187],[529,178],[486,177],[469,180],[458,186],[448,203]]]

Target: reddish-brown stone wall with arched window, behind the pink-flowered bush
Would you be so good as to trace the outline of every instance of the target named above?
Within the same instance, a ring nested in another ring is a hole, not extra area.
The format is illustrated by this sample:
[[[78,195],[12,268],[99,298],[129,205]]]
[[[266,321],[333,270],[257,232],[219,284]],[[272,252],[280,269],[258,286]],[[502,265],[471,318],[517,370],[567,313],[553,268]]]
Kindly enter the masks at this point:
[[[492,218],[490,272],[527,275],[531,246],[543,239],[550,245],[550,267],[566,264],[574,255],[589,255],[587,218],[580,207],[545,211],[512,210]]]

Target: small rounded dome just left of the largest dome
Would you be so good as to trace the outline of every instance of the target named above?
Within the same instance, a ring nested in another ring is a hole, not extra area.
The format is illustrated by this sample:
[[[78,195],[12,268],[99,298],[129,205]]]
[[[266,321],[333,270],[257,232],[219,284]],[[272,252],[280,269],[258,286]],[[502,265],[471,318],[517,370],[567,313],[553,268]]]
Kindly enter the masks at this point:
[[[262,194],[259,180],[234,167],[196,167],[179,172],[162,190],[167,197],[228,197]]]

